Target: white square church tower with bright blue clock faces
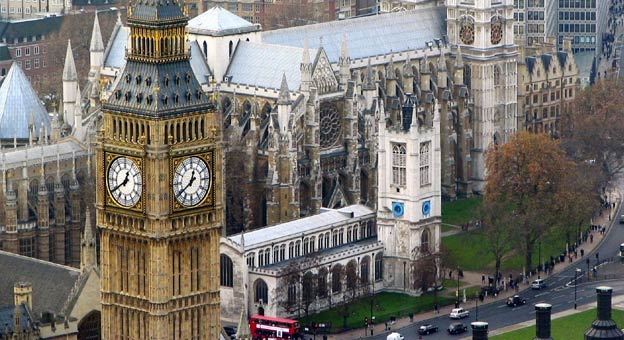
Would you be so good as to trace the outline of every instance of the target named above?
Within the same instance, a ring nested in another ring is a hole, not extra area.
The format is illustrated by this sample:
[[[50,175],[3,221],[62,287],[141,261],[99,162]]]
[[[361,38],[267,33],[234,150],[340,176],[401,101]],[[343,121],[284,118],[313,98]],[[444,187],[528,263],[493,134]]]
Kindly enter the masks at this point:
[[[440,108],[433,99],[427,56],[418,62],[416,93],[405,94],[394,119],[379,119],[377,160],[384,287],[412,293],[422,288],[414,285],[416,261],[439,250],[441,215]]]

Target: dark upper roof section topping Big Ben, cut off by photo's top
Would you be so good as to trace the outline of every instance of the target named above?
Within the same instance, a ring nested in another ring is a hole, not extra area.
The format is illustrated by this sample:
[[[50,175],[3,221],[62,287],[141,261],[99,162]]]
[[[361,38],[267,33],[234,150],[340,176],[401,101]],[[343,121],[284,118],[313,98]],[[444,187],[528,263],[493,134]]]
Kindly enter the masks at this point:
[[[183,19],[186,16],[176,0],[138,0],[130,3],[128,21],[167,21]],[[154,22],[155,23],[155,22]]]

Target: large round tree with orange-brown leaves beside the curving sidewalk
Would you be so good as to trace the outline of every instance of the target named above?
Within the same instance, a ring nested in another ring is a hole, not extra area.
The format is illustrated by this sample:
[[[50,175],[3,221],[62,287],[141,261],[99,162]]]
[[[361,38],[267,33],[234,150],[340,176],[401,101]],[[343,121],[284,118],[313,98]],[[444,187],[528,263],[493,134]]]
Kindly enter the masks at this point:
[[[484,209],[499,211],[495,221],[507,228],[498,232],[511,233],[527,270],[533,268],[531,256],[541,235],[567,212],[561,199],[574,195],[567,176],[576,167],[558,144],[544,134],[520,132],[486,154]]]

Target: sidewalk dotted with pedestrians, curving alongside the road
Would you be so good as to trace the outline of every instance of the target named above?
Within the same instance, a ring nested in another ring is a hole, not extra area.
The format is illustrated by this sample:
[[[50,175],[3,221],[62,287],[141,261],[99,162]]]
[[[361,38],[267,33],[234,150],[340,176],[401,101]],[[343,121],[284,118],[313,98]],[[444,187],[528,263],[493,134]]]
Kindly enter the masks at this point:
[[[569,262],[566,259],[566,261],[564,261],[562,263],[558,263],[557,265],[555,265],[555,268],[553,269],[552,274],[559,273],[559,272],[561,272],[562,270],[564,270],[565,268],[567,268],[569,266],[574,266],[574,265],[577,265],[577,263],[579,263],[581,261],[584,261],[585,258],[580,256],[580,249],[583,249],[585,251],[586,256],[587,256],[589,253],[591,253],[591,251],[593,251],[596,247],[598,247],[598,245],[600,245],[602,243],[602,241],[606,238],[606,236],[609,234],[609,232],[611,231],[611,226],[615,223],[615,222],[613,222],[613,220],[617,219],[616,213],[619,210],[621,202],[622,202],[622,197],[621,197],[620,192],[615,190],[615,189],[610,189],[609,197],[611,198],[612,201],[615,200],[616,207],[614,209],[613,208],[612,209],[605,209],[600,216],[598,216],[597,218],[595,218],[592,221],[593,224],[595,224],[595,225],[606,227],[606,231],[605,231],[604,235],[601,235],[601,233],[596,231],[596,230],[590,231],[590,234],[593,234],[593,236],[594,236],[594,242],[592,242],[592,243],[585,242],[585,243],[581,244],[579,246],[579,250],[578,250],[579,256],[576,259],[573,259],[572,262]],[[481,286],[481,275],[482,275],[481,273],[465,271],[464,272],[464,277],[461,279],[461,281],[466,283],[466,285],[465,285],[466,287]],[[548,278],[551,275],[548,275],[545,272],[542,272],[540,274],[540,277],[541,278]],[[487,275],[486,275],[486,277],[487,277]],[[524,289],[528,288],[529,282],[531,282],[531,280],[533,280],[534,278],[537,278],[536,274],[533,274],[533,276],[529,277],[527,282],[522,283],[520,285],[520,290],[524,290]],[[460,291],[460,293],[461,293],[461,291]],[[501,291],[496,297],[492,297],[492,296],[486,297],[485,300],[482,303],[481,302],[479,303],[479,306],[482,306],[483,304],[490,304],[490,303],[497,302],[497,301],[504,301],[508,297],[513,296],[515,294],[516,294],[516,292],[513,289],[507,289],[506,291]],[[624,302],[624,296],[622,297],[622,301]],[[466,303],[464,303],[462,305],[465,308],[467,308],[467,309],[473,308],[474,307],[474,299],[468,299],[466,301]],[[589,304],[589,305],[592,305],[592,304]],[[593,303],[593,306],[595,306],[595,305],[596,304]],[[390,329],[391,329],[390,331],[384,330],[385,325],[383,323],[382,324],[375,324],[372,327],[373,328],[373,336],[378,336],[380,334],[388,335],[392,331],[400,332],[402,328],[405,328],[405,327],[407,327],[409,325],[412,325],[412,324],[418,324],[418,323],[420,323],[423,320],[428,320],[428,319],[431,319],[431,318],[435,318],[435,317],[438,317],[440,315],[448,315],[451,312],[451,309],[453,309],[453,308],[454,308],[453,305],[446,306],[446,307],[441,307],[439,314],[434,313],[433,310],[429,311],[429,312],[425,312],[425,313],[415,314],[413,322],[410,322],[408,317],[397,319],[395,324],[389,325]],[[579,308],[577,311],[581,311],[581,310],[582,309]],[[555,316],[553,316],[553,318],[561,317],[561,316],[564,316],[564,315],[568,315],[568,314],[564,314],[564,313],[567,313],[567,312],[568,311],[555,314]],[[562,315],[558,316],[559,314],[562,314]],[[535,323],[535,320],[533,320],[532,322]],[[505,330],[505,332],[507,332],[507,331],[510,331],[510,330],[513,330],[513,329],[522,328],[522,327],[524,327],[523,326],[524,324],[525,323],[520,323],[518,325],[513,325],[513,326],[502,328],[501,330],[491,330],[490,331],[490,335],[503,333],[502,330]],[[516,327],[516,328],[513,328],[513,327]],[[365,334],[365,331],[366,331],[366,334]],[[317,335],[317,337],[318,337],[318,335]],[[359,340],[359,339],[366,339],[366,338],[370,338],[370,337],[371,337],[370,328],[368,328],[368,329],[359,328],[359,329],[355,329],[355,330],[351,330],[351,331],[347,331],[347,332],[343,332],[343,333],[330,334],[330,335],[328,335],[327,338],[329,340]]]

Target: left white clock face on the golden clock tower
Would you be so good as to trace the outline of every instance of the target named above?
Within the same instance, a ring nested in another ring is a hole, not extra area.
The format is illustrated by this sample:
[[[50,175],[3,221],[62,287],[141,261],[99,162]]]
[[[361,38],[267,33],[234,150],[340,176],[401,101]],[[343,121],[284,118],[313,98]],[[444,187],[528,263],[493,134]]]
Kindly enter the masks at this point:
[[[143,178],[136,163],[127,157],[117,157],[108,167],[108,191],[124,207],[139,202]]]

